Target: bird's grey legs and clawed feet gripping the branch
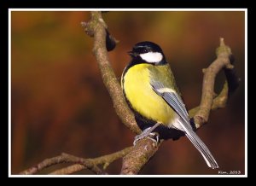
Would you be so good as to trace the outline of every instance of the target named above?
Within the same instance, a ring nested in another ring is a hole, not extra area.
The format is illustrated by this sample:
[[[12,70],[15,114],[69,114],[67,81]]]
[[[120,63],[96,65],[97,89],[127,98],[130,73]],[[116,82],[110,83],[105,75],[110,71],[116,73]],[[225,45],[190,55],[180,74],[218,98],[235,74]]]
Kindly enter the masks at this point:
[[[154,142],[158,143],[159,142],[159,134],[156,132],[152,132],[154,131],[154,129],[156,127],[158,127],[160,125],[160,123],[156,123],[154,126],[152,127],[148,127],[147,129],[145,129],[141,134],[137,135],[136,137],[134,137],[134,142],[133,145],[135,146],[137,141],[148,137],[149,139],[153,140]]]

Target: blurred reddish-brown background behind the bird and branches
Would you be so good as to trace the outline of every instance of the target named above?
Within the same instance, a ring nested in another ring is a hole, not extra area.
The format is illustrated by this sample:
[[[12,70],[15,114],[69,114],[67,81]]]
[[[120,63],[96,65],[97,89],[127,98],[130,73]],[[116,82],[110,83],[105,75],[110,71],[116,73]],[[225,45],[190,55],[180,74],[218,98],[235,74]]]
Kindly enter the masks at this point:
[[[160,44],[187,108],[201,98],[202,68],[215,59],[224,37],[236,57],[241,84],[228,106],[212,112],[198,135],[222,171],[244,173],[244,12],[108,12],[120,40],[109,53],[120,78],[137,42]],[[11,172],[66,152],[93,158],[131,146],[134,134],[114,113],[92,55],[92,38],[80,22],[89,12],[11,13]],[[216,91],[224,75],[218,76]],[[119,174],[121,160],[108,167]],[[57,166],[61,167],[61,166]],[[51,169],[52,170],[52,169]],[[46,171],[51,171],[46,170]],[[44,173],[44,171],[43,171]],[[90,171],[79,173],[90,174]],[[218,174],[186,137],[164,142],[142,174]]]

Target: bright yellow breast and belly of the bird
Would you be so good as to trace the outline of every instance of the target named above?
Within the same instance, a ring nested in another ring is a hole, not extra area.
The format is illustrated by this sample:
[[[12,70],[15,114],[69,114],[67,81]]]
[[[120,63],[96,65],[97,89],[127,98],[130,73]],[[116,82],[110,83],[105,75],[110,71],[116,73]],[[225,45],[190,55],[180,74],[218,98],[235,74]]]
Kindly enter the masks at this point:
[[[158,72],[157,68],[154,67],[155,72],[151,68],[152,65],[149,64],[138,64],[125,73],[122,84],[125,96],[131,102],[132,108],[147,119],[169,125],[175,112],[152,90],[149,73],[154,78]]]

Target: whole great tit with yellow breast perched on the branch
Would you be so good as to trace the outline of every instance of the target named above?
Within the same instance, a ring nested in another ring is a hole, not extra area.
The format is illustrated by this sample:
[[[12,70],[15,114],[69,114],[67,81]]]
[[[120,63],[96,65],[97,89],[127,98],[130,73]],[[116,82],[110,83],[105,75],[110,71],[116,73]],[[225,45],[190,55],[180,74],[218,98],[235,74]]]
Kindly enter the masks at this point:
[[[177,139],[185,135],[206,160],[207,166],[218,168],[189,122],[189,113],[160,46],[144,41],[135,44],[128,54],[131,62],[122,73],[121,84],[125,100],[143,131],[136,141],[152,134],[158,134],[160,139]]]

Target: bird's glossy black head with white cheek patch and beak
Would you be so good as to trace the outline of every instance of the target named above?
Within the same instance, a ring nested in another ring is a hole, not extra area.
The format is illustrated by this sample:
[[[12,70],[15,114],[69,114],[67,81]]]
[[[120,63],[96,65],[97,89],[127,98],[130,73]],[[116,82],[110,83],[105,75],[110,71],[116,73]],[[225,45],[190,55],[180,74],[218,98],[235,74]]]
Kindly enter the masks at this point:
[[[166,64],[166,57],[162,49],[153,42],[143,41],[137,43],[128,54],[131,55],[132,61],[137,63]]]

